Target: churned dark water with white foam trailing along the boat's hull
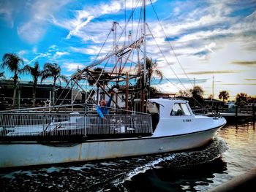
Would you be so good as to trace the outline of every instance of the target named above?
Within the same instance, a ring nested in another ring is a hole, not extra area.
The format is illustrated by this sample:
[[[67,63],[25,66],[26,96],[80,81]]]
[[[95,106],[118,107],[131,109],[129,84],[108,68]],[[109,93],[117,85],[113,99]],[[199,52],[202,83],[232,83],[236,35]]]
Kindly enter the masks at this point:
[[[92,161],[65,166],[29,167],[0,173],[3,191],[129,191],[127,183],[151,169],[204,164],[227,150],[218,137],[209,145],[179,153]]]

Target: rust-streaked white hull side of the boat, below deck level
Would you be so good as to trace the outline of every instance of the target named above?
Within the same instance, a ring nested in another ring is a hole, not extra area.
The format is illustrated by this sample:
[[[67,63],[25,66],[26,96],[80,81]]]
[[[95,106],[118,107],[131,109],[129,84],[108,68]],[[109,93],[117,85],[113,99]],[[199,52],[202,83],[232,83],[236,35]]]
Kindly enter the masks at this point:
[[[3,142],[0,144],[0,168],[61,164],[122,158],[135,155],[189,150],[206,145],[219,127],[168,137],[97,139],[81,143]]]

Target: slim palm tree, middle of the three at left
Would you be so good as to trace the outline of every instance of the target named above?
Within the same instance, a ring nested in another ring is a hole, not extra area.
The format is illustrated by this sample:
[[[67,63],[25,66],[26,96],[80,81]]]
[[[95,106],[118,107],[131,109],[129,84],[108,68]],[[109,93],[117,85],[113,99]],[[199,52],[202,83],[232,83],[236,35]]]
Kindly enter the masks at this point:
[[[33,106],[36,104],[36,89],[38,78],[42,76],[42,71],[39,69],[39,64],[36,62],[34,66],[24,66],[22,72],[29,73],[33,77]]]

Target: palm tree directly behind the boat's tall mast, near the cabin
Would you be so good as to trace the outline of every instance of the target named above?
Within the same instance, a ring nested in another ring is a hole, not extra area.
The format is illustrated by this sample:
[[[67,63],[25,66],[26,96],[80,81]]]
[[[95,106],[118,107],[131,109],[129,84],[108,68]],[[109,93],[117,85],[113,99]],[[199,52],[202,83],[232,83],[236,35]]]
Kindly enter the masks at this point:
[[[136,67],[138,67],[137,74],[138,75],[143,74],[143,67],[144,67],[143,64],[140,64],[140,66],[136,66]],[[148,98],[150,98],[151,79],[154,74],[160,78],[159,82],[161,82],[163,78],[163,74],[159,69],[157,69],[157,62],[152,61],[152,58],[146,57],[146,83],[145,84],[148,89]],[[141,84],[140,82],[141,78],[143,77],[140,76],[140,78],[138,79],[138,85]]]

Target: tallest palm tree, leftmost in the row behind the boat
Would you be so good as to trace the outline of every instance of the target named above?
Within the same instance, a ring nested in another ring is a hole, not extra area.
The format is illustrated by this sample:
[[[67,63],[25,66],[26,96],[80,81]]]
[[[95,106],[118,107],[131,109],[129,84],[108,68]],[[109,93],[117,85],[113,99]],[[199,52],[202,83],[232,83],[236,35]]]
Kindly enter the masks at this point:
[[[2,58],[1,68],[7,67],[10,72],[14,73],[13,79],[13,101],[12,106],[16,104],[16,93],[18,85],[18,74],[21,72],[21,66],[23,66],[23,59],[15,53],[5,53]]]

